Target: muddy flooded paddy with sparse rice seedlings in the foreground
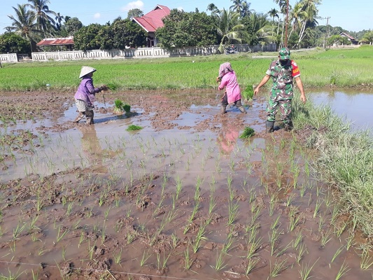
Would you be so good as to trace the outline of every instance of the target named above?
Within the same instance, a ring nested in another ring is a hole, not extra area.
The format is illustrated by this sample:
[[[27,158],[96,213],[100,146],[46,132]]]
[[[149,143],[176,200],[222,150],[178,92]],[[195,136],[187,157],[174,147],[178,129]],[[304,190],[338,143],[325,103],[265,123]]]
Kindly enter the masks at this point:
[[[72,94],[1,96],[3,279],[372,279],[309,131],[265,134],[264,96],[220,115],[212,90],[105,93],[90,126]]]

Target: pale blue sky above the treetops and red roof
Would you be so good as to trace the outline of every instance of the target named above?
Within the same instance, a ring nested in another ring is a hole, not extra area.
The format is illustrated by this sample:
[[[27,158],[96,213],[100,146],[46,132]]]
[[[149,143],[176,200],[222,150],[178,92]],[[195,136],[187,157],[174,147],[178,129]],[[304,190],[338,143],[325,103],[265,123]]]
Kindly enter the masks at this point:
[[[15,15],[12,7],[17,7],[18,3],[27,3],[27,0],[1,0],[0,10],[0,34],[6,26],[11,25],[8,15]],[[277,8],[276,3],[272,0],[253,0],[251,9],[257,13],[267,13],[272,8]],[[48,4],[50,10],[59,12],[61,15],[77,17],[83,25],[91,23],[104,24],[112,22],[118,16],[127,17],[127,11],[131,8],[140,8],[143,13],[148,13],[155,8],[157,4],[169,8],[182,8],[190,12],[198,8],[199,11],[206,11],[209,3],[222,8],[230,8],[232,1],[223,0],[135,0],[135,1],[118,1],[118,0],[50,0]],[[290,0],[290,5],[294,6],[295,0]],[[372,0],[322,0],[318,6],[319,13],[323,18],[330,18],[329,24],[333,27],[342,27],[348,31],[361,31],[363,29],[373,30],[373,1]],[[327,20],[318,20],[319,25],[326,25]]]

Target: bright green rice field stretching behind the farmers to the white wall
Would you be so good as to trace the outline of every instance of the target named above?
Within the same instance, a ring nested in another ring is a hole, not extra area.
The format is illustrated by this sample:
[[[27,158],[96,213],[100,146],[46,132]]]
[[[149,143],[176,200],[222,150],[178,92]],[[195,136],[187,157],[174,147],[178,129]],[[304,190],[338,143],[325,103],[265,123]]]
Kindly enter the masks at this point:
[[[262,57],[262,58],[253,58]],[[94,82],[110,84],[117,90],[132,88],[209,88],[216,87],[219,65],[229,61],[237,72],[239,83],[246,87],[258,84],[271,57],[276,52],[209,57],[167,59],[120,59],[69,62],[29,62],[3,64],[0,69],[0,90],[75,90],[80,67],[93,66],[98,71]],[[302,72],[305,87],[373,87],[370,62],[373,47],[345,50],[309,50],[293,52]],[[268,85],[267,85],[268,86]]]

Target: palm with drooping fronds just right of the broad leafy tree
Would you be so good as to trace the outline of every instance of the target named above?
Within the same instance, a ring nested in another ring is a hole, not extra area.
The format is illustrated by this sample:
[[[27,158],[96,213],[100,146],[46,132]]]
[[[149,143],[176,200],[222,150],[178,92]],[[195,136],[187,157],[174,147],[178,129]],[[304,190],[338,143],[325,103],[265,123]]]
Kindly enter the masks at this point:
[[[242,40],[248,39],[248,33],[245,26],[238,24],[239,13],[232,12],[231,10],[220,10],[217,14],[218,25],[216,27],[218,34],[222,37],[218,50],[223,53],[224,45],[226,43],[241,43]]]

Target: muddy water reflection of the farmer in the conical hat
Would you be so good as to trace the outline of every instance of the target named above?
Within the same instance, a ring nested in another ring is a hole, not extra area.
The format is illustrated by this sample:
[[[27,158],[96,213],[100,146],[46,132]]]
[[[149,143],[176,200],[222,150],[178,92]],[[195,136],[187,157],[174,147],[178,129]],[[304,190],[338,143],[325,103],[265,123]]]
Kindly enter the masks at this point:
[[[82,125],[78,126],[78,128],[83,134],[82,149],[87,156],[91,171],[97,173],[107,172],[106,167],[103,165],[106,151],[101,148],[94,125]]]

